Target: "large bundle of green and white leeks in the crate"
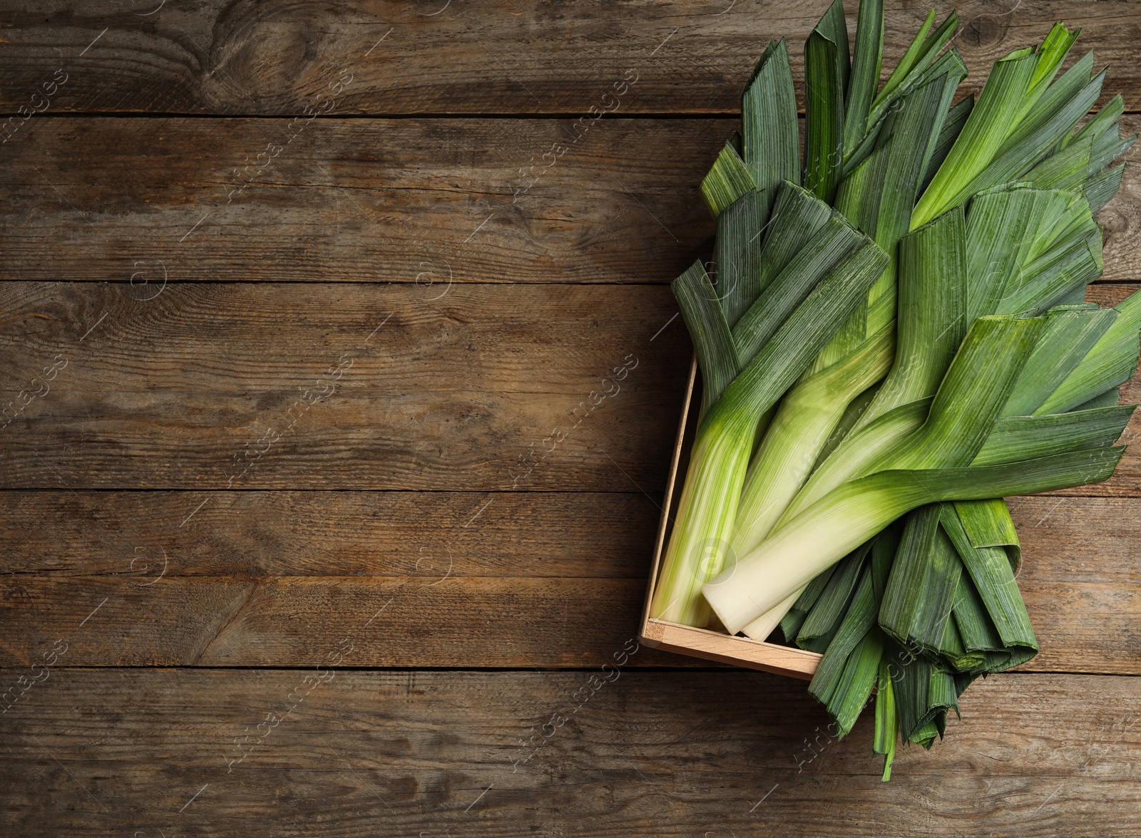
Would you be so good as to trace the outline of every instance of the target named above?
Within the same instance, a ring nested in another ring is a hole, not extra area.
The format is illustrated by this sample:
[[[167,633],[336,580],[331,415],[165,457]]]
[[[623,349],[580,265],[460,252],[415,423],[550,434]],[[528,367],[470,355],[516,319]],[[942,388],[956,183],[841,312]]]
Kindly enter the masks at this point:
[[[823,654],[840,735],[875,691],[874,749],[931,747],[979,676],[1038,649],[1005,503],[1107,479],[1133,406],[1141,298],[1085,304],[1094,213],[1135,137],[1078,32],[996,62],[978,100],[932,11],[882,73],[883,8],[840,0],[742,96],[702,182],[714,270],[673,283],[702,414],[650,615]],[[1081,123],[1081,124],[1079,124]]]

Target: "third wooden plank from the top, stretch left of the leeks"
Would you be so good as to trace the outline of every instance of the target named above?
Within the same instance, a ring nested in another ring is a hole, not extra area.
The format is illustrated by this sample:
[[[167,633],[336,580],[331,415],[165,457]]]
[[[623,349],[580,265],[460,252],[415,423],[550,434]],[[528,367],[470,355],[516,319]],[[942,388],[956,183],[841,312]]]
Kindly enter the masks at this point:
[[[43,393],[0,431],[5,487],[664,485],[691,355],[666,287],[132,291],[0,286],[0,406]]]

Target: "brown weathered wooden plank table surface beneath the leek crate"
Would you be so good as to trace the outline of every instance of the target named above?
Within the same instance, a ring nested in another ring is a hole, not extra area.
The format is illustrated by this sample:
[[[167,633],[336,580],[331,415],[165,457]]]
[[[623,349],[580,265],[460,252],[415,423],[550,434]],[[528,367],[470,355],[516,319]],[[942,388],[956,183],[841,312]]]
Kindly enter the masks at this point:
[[[893,62],[925,7],[889,6]],[[1136,3],[940,6],[966,90],[1063,18],[1141,101]],[[690,355],[666,284],[753,60],[787,35],[799,78],[824,8],[0,13],[31,114],[0,149],[0,685],[34,684],[0,832],[1141,833],[1132,447],[1013,501],[1042,653],[889,784],[802,682],[631,653]]]

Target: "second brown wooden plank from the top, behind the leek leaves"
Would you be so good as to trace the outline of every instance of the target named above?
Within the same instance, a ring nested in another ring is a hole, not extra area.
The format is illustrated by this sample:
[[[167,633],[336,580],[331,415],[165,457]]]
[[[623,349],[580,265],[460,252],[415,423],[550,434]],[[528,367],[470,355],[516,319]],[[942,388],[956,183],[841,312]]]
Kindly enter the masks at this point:
[[[450,282],[664,284],[712,246],[698,184],[736,127],[353,119],[290,141],[289,124],[29,123],[0,169],[0,279],[133,277],[139,296],[163,278],[419,283],[424,298]],[[1136,166],[1100,219],[1106,279],[1135,278]]]

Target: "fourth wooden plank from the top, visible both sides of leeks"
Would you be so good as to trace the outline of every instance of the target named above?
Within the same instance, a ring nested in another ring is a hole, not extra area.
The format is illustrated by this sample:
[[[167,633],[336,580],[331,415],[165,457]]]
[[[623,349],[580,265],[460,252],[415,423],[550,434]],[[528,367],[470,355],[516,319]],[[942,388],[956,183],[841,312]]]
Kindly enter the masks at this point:
[[[1027,670],[1141,674],[1138,503],[1012,501],[1042,645]],[[0,665],[30,664],[60,637],[71,665],[304,666],[353,636],[358,666],[591,666],[638,630],[650,501],[501,494],[471,520],[483,504],[0,493],[13,573],[0,581]],[[666,652],[637,665],[705,666]]]

